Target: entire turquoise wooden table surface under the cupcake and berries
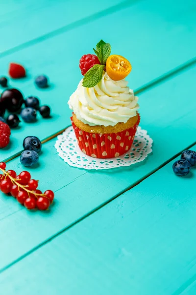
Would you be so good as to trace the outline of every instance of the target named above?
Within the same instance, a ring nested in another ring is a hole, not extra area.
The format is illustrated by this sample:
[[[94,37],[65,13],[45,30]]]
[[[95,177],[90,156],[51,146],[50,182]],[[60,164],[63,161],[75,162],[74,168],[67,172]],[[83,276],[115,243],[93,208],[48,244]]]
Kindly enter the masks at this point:
[[[55,202],[32,212],[0,193],[0,294],[195,295],[196,169],[172,171],[184,149],[196,150],[195,0],[2,2],[0,75],[24,64],[27,76],[11,86],[50,105],[52,118],[12,129],[0,160],[21,172],[23,139],[38,136],[39,165],[25,170]],[[144,162],[113,171],[72,168],[54,148],[70,125],[78,60],[100,39],[130,60],[153,139]],[[36,89],[43,73],[50,87]]]

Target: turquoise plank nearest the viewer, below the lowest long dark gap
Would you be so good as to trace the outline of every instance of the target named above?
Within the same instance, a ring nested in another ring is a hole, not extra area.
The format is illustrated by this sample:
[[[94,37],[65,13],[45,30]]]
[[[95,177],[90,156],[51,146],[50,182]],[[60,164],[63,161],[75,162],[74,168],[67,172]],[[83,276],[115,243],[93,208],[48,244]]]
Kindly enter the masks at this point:
[[[172,163],[5,270],[3,294],[194,295],[196,169]]]

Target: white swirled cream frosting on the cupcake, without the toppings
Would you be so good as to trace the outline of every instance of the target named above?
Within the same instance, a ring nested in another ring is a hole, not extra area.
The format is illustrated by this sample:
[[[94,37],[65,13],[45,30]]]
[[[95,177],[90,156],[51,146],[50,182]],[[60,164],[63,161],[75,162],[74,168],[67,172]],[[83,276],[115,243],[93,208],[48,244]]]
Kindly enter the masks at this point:
[[[82,86],[82,80],[68,102],[77,119],[90,126],[114,126],[136,116],[138,97],[127,87],[128,82],[114,81],[105,72],[92,88]]]

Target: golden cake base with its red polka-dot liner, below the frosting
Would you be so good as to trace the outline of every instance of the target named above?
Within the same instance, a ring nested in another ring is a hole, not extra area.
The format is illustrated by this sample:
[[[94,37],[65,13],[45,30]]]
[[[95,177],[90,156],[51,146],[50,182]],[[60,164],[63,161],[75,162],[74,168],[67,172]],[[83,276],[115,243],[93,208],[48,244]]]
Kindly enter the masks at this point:
[[[110,126],[87,126],[84,124],[84,128],[83,125],[79,123],[81,121],[76,121],[76,117],[72,117],[71,120],[77,143],[81,151],[93,158],[106,159],[119,157],[131,148],[140,122],[140,115],[137,114],[137,116],[131,118],[131,120],[128,120],[126,123],[118,123],[117,125],[119,126],[111,126],[113,132],[108,133],[105,133],[109,130],[106,128],[109,128]],[[125,129],[123,129],[123,127]],[[90,128],[90,132],[85,131],[84,129],[86,128]],[[118,130],[119,132],[115,132]]]

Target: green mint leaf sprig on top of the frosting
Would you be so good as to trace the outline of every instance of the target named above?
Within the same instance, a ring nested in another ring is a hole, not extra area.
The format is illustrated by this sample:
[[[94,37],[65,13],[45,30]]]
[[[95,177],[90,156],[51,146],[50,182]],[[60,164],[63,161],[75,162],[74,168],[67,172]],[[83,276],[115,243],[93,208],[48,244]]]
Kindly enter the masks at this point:
[[[109,43],[105,43],[103,40],[100,40],[96,49],[93,48],[93,50],[96,53],[100,64],[95,64],[85,74],[82,86],[88,88],[96,86],[101,81],[106,60],[111,53],[111,45]]]

